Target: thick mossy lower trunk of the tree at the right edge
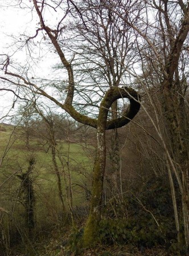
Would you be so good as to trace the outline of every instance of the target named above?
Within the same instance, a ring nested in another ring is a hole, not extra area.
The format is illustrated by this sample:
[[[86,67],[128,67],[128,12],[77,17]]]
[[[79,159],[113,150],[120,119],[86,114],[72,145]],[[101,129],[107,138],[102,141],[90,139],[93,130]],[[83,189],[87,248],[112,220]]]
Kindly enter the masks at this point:
[[[170,89],[169,81],[163,90],[163,108],[170,138],[171,157],[180,178],[182,215],[186,247],[189,245],[189,175],[188,175],[188,121],[184,99],[176,87]]]

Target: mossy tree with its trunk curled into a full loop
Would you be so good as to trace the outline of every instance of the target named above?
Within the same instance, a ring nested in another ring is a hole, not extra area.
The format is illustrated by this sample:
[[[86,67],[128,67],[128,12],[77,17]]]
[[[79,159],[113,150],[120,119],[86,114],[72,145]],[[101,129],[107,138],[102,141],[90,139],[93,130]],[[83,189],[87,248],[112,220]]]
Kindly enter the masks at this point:
[[[84,230],[84,246],[90,246],[97,238],[98,223],[101,217],[102,187],[106,162],[105,131],[110,129],[118,129],[119,127],[129,123],[140,109],[140,97],[137,91],[132,88],[119,87],[118,85],[112,86],[105,91],[104,95],[102,95],[101,103],[98,107],[97,118],[92,118],[89,115],[80,113],[80,111],[78,111],[73,104],[73,97],[76,95],[76,83],[73,75],[74,70],[72,67],[72,60],[68,61],[68,58],[65,57],[65,53],[59,40],[59,37],[64,30],[64,26],[62,25],[64,18],[61,19],[61,21],[57,24],[56,29],[51,29],[46,25],[43,16],[45,7],[49,7],[47,2],[45,0],[42,2],[33,0],[33,4],[36,14],[38,14],[39,17],[40,28],[38,28],[34,37],[27,39],[27,43],[29,40],[34,39],[38,35],[39,31],[44,33],[46,37],[50,39],[49,43],[51,43],[51,47],[54,47],[57,55],[59,55],[64,69],[67,71],[68,82],[65,101],[63,103],[61,100],[54,97],[53,94],[48,93],[46,87],[43,88],[37,83],[31,82],[27,75],[24,77],[23,75],[12,72],[10,58],[7,55],[4,55],[5,58],[3,58],[2,61],[2,70],[5,71],[5,75],[1,76],[0,79],[4,82],[11,83],[11,85],[19,86],[20,89],[30,90],[33,94],[35,94],[35,96],[42,95],[42,97],[46,97],[51,102],[54,102],[57,106],[61,107],[61,109],[67,111],[67,113],[69,113],[69,115],[71,115],[71,117],[76,121],[96,128],[97,153],[93,170],[91,210]],[[67,13],[68,11],[69,7]],[[113,103],[117,101],[117,99],[124,98],[129,99],[130,105],[128,109],[126,109],[120,117],[109,120],[108,113],[110,107],[112,107]]]

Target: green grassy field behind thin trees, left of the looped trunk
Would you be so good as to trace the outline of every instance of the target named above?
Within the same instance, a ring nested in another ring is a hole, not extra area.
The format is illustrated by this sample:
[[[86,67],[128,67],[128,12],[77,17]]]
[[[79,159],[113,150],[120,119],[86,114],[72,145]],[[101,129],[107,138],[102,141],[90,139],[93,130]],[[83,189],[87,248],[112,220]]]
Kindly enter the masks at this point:
[[[81,207],[85,202],[87,203],[84,187],[87,186],[89,188],[91,186],[93,159],[89,158],[88,150],[92,150],[92,147],[86,148],[82,144],[59,140],[57,142],[57,150],[63,159],[63,165],[61,165],[59,158],[56,157],[65,206],[67,206],[67,198],[64,175],[68,185],[70,175],[73,207]],[[13,207],[13,201],[10,198],[18,194],[20,187],[20,180],[17,175],[26,173],[31,156],[36,159],[35,167],[31,174],[35,188],[36,215],[38,218],[39,216],[40,218],[43,217],[42,219],[53,219],[53,216],[59,213],[60,199],[51,150],[48,150],[48,145],[43,146],[41,141],[36,138],[30,139],[29,147],[27,148],[23,137],[20,137],[19,129],[14,130],[13,126],[5,124],[0,125],[0,158],[3,159],[0,167],[0,190],[4,194],[0,199],[0,206],[2,205],[2,207],[9,210]],[[7,192],[4,193],[5,191]]]

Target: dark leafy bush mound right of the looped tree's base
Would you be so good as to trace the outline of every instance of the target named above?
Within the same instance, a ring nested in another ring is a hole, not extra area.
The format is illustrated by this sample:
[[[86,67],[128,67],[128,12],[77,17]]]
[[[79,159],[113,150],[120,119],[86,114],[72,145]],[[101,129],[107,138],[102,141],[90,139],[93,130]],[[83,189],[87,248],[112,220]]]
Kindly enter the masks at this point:
[[[126,243],[139,247],[170,247],[172,241],[176,242],[170,185],[165,176],[153,176],[140,191],[135,192],[133,188],[133,193],[130,191],[125,196],[124,205],[128,214],[125,220],[123,212],[121,216],[123,205],[115,203],[109,203],[104,209],[105,219],[100,222],[101,242]],[[112,214],[111,207],[116,214]]]

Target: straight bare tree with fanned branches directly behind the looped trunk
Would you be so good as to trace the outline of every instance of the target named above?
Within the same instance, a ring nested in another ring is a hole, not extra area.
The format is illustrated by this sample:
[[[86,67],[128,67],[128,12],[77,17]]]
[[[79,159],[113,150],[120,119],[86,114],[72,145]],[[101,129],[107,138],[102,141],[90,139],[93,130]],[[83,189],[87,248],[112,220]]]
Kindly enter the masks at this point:
[[[88,83],[105,83],[109,87],[118,87],[124,78],[125,66],[133,66],[138,55],[136,37],[129,26],[118,15],[108,8],[104,8],[101,0],[70,1],[75,7],[73,15],[81,16],[69,23],[72,34],[64,47],[79,55],[74,62],[74,69],[78,79],[85,79]],[[106,1],[109,3],[109,0]],[[121,1],[116,0],[115,11],[121,13]],[[137,2],[122,1],[133,22],[141,13]],[[77,38],[77,40],[76,40]],[[125,84],[125,83],[124,83]],[[111,106],[111,116],[118,117],[118,102]],[[109,173],[107,174],[110,190],[113,194],[120,193],[120,138],[118,130],[111,131],[111,147],[109,155]],[[112,194],[111,193],[111,194]],[[109,195],[112,197],[112,195]]]

